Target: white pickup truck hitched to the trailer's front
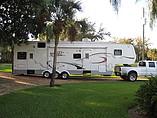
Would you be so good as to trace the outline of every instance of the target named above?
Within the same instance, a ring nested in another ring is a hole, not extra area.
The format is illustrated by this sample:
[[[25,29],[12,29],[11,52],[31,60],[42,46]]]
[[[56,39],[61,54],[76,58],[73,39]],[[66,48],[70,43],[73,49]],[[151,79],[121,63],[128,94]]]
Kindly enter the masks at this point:
[[[115,74],[129,81],[136,81],[137,77],[157,76],[157,61],[140,61],[138,67],[116,66]]]

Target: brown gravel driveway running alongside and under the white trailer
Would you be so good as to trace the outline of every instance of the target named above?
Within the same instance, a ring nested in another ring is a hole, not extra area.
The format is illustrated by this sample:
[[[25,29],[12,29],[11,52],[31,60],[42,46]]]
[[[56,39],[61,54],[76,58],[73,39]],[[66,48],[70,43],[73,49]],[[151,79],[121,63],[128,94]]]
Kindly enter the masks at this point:
[[[120,78],[90,78],[90,77],[70,77],[69,79],[56,79],[55,84],[74,82],[119,82]],[[50,79],[42,76],[22,76],[6,72],[0,72],[0,95],[4,95],[16,90],[35,86],[48,86]]]

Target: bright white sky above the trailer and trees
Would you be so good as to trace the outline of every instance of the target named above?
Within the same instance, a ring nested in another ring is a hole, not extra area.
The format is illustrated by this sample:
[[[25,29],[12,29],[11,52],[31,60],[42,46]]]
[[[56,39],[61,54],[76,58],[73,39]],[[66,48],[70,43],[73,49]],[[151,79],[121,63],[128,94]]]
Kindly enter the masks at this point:
[[[117,38],[142,37],[142,11],[147,7],[145,0],[135,3],[136,0],[122,0],[118,15],[113,10],[109,0],[80,0],[83,12],[77,13],[77,18],[88,18],[90,22],[96,23],[97,29],[102,27],[111,32],[111,36]],[[150,38],[152,48],[157,48],[157,27],[153,31],[149,28],[149,19],[145,26],[145,36]]]

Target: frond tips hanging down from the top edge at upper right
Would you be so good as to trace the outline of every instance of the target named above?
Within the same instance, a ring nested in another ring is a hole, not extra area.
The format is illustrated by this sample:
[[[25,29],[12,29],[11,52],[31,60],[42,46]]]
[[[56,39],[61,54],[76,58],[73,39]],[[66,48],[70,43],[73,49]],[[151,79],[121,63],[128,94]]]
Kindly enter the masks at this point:
[[[137,2],[140,0],[136,0]],[[121,4],[121,0],[110,0],[110,3],[118,13],[118,9]],[[150,27],[153,28],[155,20],[157,19],[157,0],[148,0],[149,16],[150,16]]]

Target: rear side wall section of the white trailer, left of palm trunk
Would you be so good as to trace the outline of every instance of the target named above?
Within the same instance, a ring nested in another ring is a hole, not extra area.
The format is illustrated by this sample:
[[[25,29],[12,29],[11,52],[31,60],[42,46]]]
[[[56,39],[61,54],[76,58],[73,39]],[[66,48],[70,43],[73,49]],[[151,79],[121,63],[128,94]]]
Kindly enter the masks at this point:
[[[14,50],[14,73],[41,74],[47,69],[47,60],[47,45],[45,42],[16,45]]]

